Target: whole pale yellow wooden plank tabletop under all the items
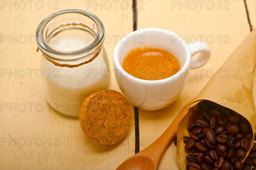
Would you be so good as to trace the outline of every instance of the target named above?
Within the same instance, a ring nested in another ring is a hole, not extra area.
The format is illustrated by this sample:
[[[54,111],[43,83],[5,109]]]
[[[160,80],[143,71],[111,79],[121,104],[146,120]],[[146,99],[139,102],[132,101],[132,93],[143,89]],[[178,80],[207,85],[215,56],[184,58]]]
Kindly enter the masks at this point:
[[[256,26],[256,1],[246,0],[251,25]],[[101,146],[86,138],[77,118],[54,112],[47,104],[40,76],[41,53],[35,31],[48,15],[82,9],[98,16],[104,26],[111,69],[112,54],[122,35],[133,31],[132,1],[1,0],[0,9],[0,169],[112,170],[134,155],[134,113],[128,135],[118,144]],[[250,32],[243,0],[137,0],[137,29],[171,30],[187,43],[206,42],[212,56],[188,78],[180,97],[169,107],[140,111],[140,150],[156,140],[175,115],[195,97],[221,64]],[[209,71],[210,70],[210,71]],[[111,89],[119,90],[114,76]],[[178,170],[171,144],[158,169]]]

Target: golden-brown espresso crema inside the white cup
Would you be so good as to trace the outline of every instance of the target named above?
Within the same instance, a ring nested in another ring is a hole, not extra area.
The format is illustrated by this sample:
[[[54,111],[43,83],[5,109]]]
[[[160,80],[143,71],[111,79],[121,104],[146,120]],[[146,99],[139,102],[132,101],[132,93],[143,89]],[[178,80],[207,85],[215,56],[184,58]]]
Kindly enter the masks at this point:
[[[143,80],[161,80],[175,75],[180,63],[170,52],[157,48],[137,48],[124,58],[123,69]]]

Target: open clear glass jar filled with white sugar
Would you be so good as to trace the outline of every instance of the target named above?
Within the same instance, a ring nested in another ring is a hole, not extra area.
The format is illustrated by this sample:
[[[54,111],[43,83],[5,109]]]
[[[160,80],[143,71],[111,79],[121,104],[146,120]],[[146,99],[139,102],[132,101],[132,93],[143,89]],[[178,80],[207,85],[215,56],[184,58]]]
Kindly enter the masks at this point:
[[[56,12],[39,24],[36,40],[45,96],[58,112],[77,117],[85,98],[109,88],[104,26],[95,15],[75,9]]]

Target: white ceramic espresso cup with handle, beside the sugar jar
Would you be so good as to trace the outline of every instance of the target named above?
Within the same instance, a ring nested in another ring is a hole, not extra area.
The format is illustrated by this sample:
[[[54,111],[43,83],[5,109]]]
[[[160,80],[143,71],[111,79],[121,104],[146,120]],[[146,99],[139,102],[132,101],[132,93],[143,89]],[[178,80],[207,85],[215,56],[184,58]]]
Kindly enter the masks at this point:
[[[143,80],[128,74],[122,68],[124,58],[131,50],[144,47],[172,53],[181,69],[175,75],[161,80]],[[131,104],[144,110],[158,110],[175,101],[184,87],[189,69],[203,66],[210,55],[209,47],[203,42],[186,44],[173,32],[148,28],[131,32],[117,43],[113,52],[113,66],[119,88]]]

